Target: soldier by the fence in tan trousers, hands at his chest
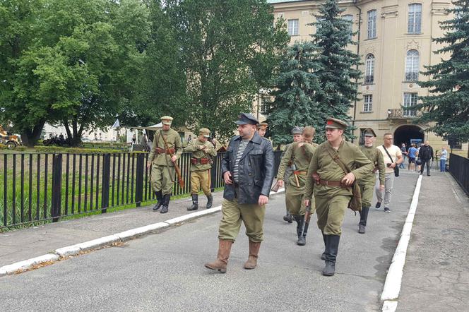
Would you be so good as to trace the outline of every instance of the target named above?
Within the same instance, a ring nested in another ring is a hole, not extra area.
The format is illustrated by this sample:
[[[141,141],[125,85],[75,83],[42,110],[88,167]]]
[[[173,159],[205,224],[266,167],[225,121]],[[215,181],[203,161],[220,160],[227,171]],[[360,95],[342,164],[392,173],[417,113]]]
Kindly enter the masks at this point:
[[[201,128],[198,131],[198,138],[191,140],[185,151],[192,152],[191,157],[191,195],[192,206],[187,210],[198,209],[198,191],[202,188],[207,196],[206,208],[210,209],[213,205],[213,196],[210,192],[210,168],[212,167],[212,157],[217,155],[215,146],[208,141],[210,130]]]

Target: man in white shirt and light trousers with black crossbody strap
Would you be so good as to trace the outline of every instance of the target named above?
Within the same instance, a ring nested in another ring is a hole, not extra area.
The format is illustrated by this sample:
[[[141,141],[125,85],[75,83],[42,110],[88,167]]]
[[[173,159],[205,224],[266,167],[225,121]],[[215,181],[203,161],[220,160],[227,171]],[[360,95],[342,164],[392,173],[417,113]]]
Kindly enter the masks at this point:
[[[404,158],[400,148],[393,145],[393,133],[384,133],[384,145],[379,145],[377,148],[383,154],[384,164],[386,165],[386,177],[384,179],[384,212],[391,212],[389,203],[391,202],[393,193],[394,167],[399,166],[399,164],[404,161]],[[376,198],[378,198],[375,208],[379,209],[383,201],[383,193],[379,188],[379,184],[374,188],[374,191]]]

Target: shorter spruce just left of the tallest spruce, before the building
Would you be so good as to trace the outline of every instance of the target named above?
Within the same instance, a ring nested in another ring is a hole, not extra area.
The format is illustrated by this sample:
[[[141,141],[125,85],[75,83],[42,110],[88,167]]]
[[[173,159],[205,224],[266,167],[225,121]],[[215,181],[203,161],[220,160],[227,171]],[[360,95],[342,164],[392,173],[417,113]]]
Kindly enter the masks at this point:
[[[275,100],[268,110],[269,131],[275,144],[290,143],[295,126],[316,126],[321,121],[314,94],[319,83],[314,71],[314,44],[296,42],[288,47],[274,81]]]

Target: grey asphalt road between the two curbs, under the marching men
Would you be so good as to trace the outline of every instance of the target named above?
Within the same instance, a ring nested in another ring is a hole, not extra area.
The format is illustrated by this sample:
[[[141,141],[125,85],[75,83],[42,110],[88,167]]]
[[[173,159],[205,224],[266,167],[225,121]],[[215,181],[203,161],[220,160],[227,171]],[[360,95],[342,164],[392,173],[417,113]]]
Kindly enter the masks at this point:
[[[265,241],[255,270],[244,270],[248,241],[241,229],[227,274],[215,259],[220,214],[0,278],[1,311],[378,311],[386,270],[398,242],[417,174],[395,181],[391,213],[369,212],[367,234],[348,211],[336,275],[323,277],[321,234],[311,222],[307,246],[282,220],[284,196],[271,198]],[[313,219],[314,220],[314,217]]]

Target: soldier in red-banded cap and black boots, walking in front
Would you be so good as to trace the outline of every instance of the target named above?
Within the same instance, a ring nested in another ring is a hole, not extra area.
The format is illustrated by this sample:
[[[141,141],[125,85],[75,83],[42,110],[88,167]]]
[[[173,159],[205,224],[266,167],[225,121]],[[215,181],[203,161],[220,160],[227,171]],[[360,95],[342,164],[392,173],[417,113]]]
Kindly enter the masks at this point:
[[[360,148],[345,141],[343,131],[347,126],[345,121],[327,119],[327,141],[314,152],[304,190],[305,205],[309,204],[314,191],[318,227],[326,245],[323,253],[326,266],[322,272],[326,276],[336,272],[341,227],[352,198],[352,184],[373,170],[373,163]],[[345,174],[342,167],[348,167],[350,172]]]

